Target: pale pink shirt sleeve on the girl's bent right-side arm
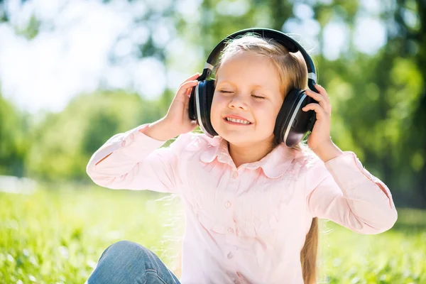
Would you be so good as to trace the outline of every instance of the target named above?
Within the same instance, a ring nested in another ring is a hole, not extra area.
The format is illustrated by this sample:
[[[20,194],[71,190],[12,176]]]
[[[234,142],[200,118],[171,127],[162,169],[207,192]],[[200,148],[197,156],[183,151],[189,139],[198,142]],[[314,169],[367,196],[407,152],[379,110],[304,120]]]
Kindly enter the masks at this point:
[[[319,183],[318,183],[319,182]],[[379,234],[398,219],[388,187],[346,151],[307,173],[312,217],[329,219],[360,234]]]

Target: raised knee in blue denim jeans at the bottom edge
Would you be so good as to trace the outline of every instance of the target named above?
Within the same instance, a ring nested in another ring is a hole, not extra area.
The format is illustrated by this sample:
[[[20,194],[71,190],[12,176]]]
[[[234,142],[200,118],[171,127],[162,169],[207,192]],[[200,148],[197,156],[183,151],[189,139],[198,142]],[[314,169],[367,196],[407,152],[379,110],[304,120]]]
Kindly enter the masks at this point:
[[[180,284],[155,253],[132,241],[111,244],[86,283]]]

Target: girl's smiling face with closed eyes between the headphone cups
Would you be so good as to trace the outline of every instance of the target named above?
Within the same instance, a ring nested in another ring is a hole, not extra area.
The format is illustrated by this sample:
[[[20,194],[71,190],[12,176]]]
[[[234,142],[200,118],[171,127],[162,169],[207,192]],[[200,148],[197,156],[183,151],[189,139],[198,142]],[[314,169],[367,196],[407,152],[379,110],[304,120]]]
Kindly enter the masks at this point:
[[[239,51],[225,58],[216,75],[212,126],[219,136],[234,145],[271,143],[284,95],[273,62],[255,53]],[[250,124],[226,121],[241,116]]]

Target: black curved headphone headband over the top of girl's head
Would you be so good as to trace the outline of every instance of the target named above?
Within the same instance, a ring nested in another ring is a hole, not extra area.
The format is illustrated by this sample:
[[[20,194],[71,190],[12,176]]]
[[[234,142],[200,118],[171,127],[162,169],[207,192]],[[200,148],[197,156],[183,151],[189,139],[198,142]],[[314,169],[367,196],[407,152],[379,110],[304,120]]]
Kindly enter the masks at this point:
[[[202,75],[200,75],[199,80],[205,80],[212,74],[214,60],[217,60],[217,58],[219,58],[219,54],[225,48],[226,42],[228,40],[232,40],[238,37],[239,35],[244,35],[246,33],[256,33],[258,35],[261,35],[262,38],[273,39],[283,45],[285,48],[287,48],[290,53],[297,53],[297,51],[300,51],[307,66],[307,85],[310,89],[312,89],[312,91],[317,92],[314,87],[317,82],[317,72],[315,71],[315,65],[312,61],[312,58],[310,58],[306,50],[302,48],[302,46],[297,43],[296,40],[290,38],[290,36],[286,35],[285,33],[275,31],[270,28],[246,28],[244,30],[232,33],[231,35],[228,35],[226,38],[221,40],[221,42],[218,43],[216,47],[212,50],[212,53],[210,53],[209,58],[207,58],[206,64],[204,65],[204,70],[202,71]]]

